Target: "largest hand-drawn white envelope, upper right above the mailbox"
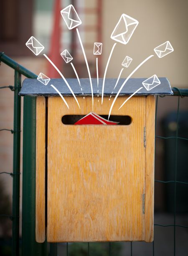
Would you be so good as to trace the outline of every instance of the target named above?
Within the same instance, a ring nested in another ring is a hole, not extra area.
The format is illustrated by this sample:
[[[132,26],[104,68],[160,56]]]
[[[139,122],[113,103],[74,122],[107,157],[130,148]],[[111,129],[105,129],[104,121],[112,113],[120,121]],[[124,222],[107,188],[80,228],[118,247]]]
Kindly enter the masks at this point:
[[[119,43],[127,44],[138,26],[138,21],[127,14],[122,14],[112,32],[111,38]]]

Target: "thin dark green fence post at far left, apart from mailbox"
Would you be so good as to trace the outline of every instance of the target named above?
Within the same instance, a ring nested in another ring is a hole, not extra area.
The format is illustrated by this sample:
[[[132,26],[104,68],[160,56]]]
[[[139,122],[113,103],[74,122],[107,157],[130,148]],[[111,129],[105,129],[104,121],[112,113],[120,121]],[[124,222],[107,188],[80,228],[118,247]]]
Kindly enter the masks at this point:
[[[12,255],[19,255],[19,220],[20,220],[20,120],[21,99],[18,95],[21,87],[21,74],[15,71],[14,77],[14,128],[13,128],[13,237]]]

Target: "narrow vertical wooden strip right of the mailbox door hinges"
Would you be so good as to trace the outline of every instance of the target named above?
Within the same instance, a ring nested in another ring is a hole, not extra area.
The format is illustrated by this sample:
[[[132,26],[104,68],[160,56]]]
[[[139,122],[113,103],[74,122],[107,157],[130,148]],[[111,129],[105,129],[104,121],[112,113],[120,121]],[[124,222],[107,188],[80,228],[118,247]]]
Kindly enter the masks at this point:
[[[154,229],[155,96],[146,97],[145,241]]]

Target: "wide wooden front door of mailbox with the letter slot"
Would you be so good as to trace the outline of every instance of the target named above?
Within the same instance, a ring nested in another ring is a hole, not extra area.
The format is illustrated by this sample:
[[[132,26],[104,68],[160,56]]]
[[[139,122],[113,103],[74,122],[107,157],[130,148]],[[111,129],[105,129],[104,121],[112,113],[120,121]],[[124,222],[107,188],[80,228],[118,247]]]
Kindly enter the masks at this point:
[[[146,97],[119,97],[112,115],[130,115],[130,125],[64,125],[63,115],[85,115],[91,97],[48,98],[47,240],[142,241],[145,218]],[[112,98],[113,99],[113,98]],[[108,115],[112,103],[94,97],[94,112]]]

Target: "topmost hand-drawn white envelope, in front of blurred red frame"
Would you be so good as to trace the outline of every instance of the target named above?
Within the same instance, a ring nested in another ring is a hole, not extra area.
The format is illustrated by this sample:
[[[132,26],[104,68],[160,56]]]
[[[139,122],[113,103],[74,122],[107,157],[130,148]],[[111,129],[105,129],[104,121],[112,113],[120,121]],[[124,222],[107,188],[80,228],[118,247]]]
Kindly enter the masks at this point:
[[[76,10],[73,5],[69,5],[63,10],[61,10],[61,16],[64,18],[66,26],[69,29],[76,28],[81,24],[79,15],[78,13],[76,13]]]

